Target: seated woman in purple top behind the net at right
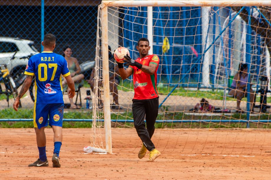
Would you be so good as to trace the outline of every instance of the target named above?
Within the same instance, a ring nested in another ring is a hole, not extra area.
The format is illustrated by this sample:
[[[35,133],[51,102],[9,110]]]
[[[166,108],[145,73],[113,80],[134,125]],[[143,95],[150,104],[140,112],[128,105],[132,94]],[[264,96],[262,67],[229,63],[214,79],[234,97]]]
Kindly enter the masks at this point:
[[[236,97],[237,100],[237,106],[236,106],[236,112],[242,112],[240,108],[240,103],[243,97],[247,95],[247,83],[248,83],[248,73],[247,73],[248,67],[247,64],[240,63],[239,65],[239,71],[234,75],[231,88],[228,92],[229,95],[232,95]],[[250,107],[251,111],[253,112],[254,107],[254,91],[252,90],[250,86],[249,90],[249,97],[250,97]]]

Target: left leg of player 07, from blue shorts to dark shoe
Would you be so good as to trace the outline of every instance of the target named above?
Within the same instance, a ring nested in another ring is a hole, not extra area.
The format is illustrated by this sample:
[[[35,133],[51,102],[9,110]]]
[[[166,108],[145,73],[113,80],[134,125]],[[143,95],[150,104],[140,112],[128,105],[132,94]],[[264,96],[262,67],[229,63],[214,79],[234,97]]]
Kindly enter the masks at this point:
[[[46,136],[45,126],[48,125],[48,108],[47,106],[34,104],[34,129],[36,132],[37,146],[39,149],[39,159],[28,166],[49,166],[46,156]]]

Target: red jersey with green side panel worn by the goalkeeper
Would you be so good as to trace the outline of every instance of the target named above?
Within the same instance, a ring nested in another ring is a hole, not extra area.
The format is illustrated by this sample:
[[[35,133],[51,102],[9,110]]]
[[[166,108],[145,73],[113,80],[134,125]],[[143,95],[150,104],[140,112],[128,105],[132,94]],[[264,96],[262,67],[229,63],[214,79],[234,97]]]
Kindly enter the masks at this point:
[[[156,64],[157,68],[153,75],[143,72],[135,66],[129,66],[128,68],[133,69],[133,81],[135,96],[134,99],[152,99],[158,97],[158,92],[156,89],[157,83],[157,69],[159,65],[159,58],[157,55],[148,55],[145,58],[137,58],[136,62],[149,66],[149,64]]]

